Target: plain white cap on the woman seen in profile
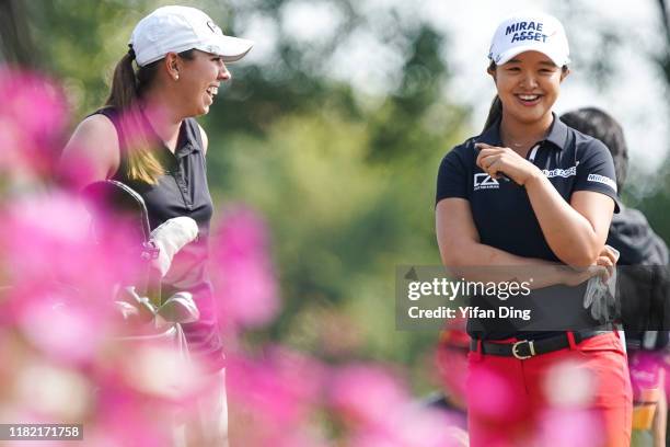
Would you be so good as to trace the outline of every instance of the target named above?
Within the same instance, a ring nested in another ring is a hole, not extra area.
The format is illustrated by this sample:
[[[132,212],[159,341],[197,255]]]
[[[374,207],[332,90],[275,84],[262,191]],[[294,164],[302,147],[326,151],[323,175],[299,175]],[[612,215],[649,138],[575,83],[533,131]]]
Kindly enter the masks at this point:
[[[199,49],[234,62],[246,55],[254,43],[230,37],[203,11],[188,7],[162,7],[135,26],[128,45],[142,67],[162,59],[168,53]]]

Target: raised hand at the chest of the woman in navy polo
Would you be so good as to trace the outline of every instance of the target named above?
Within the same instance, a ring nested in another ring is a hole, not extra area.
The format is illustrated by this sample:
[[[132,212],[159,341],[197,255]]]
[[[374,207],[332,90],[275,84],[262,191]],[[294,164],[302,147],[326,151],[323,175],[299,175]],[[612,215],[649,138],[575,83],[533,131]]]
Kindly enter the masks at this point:
[[[475,147],[480,150],[476,164],[492,179],[500,179],[500,174],[507,175],[517,184],[523,186],[538,175],[541,171],[533,163],[519,156],[510,148],[499,148],[485,142],[477,142]]]

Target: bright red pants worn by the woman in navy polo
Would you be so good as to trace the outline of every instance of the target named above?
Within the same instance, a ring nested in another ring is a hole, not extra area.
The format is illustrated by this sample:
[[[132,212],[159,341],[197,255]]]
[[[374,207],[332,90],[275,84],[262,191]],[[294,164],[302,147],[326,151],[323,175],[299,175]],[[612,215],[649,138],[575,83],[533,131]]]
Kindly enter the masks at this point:
[[[617,334],[568,339],[570,347],[524,360],[469,354],[471,447],[629,445],[633,398]]]

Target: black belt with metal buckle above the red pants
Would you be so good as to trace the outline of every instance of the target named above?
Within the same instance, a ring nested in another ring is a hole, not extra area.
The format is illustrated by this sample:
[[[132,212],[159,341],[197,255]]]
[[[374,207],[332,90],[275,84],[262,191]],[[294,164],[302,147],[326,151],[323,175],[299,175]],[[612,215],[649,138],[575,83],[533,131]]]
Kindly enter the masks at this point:
[[[596,335],[607,334],[610,331],[603,330],[586,330],[574,331],[575,344],[579,344],[587,339]],[[516,343],[494,343],[482,341],[482,354],[498,355],[503,357],[517,357],[520,360],[534,357],[541,354],[552,353],[554,351],[565,349],[570,346],[567,332],[539,340],[520,340]],[[470,341],[470,351],[477,351],[477,340]]]

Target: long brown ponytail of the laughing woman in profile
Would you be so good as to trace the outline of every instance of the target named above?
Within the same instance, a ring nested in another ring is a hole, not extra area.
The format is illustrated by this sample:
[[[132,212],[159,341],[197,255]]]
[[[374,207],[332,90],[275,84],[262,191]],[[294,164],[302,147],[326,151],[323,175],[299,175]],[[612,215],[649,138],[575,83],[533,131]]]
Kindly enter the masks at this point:
[[[193,49],[182,51],[178,56],[187,60],[195,57]],[[139,67],[137,72],[132,67],[134,60],[135,51],[130,48],[114,69],[105,105],[114,107],[122,117],[119,124],[123,135],[119,137],[126,148],[128,177],[155,184],[164,170],[151,150],[152,145],[140,115],[139,100],[155,79],[163,59]]]

